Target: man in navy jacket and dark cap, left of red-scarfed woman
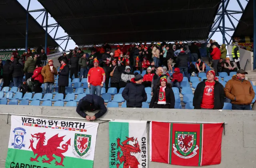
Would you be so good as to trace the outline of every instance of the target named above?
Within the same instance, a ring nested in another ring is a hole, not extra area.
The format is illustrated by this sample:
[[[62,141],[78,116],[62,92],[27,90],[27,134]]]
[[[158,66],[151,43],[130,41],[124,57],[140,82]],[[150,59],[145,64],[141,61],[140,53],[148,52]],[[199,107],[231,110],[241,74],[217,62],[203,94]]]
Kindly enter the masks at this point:
[[[145,87],[142,85],[143,77],[138,74],[135,76],[135,82],[128,83],[123,92],[122,96],[126,100],[126,107],[142,107],[142,102],[147,101],[147,94]]]

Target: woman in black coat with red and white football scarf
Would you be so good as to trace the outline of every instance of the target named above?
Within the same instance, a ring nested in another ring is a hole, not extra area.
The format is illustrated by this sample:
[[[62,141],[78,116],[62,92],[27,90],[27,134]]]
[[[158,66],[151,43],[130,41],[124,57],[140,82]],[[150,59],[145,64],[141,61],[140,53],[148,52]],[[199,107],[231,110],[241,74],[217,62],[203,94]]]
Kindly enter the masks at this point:
[[[172,86],[167,83],[167,77],[162,76],[160,83],[156,85],[153,97],[151,99],[150,108],[174,109],[175,97]]]

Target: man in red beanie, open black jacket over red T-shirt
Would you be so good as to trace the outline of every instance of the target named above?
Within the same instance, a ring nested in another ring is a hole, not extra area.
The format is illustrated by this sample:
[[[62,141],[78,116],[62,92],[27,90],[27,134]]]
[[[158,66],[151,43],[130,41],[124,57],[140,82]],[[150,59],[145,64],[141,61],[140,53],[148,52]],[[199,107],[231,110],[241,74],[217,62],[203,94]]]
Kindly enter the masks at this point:
[[[224,106],[224,88],[220,82],[214,80],[214,70],[206,73],[206,78],[200,82],[194,92],[194,109],[222,109]]]

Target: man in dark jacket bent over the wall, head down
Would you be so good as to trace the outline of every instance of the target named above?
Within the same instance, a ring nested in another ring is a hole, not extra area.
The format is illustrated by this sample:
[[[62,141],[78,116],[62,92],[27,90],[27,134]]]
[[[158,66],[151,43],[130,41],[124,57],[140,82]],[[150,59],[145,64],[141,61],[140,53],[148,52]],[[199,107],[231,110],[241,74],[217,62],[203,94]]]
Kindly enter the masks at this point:
[[[96,113],[94,116],[90,117],[86,113],[84,113],[84,110],[100,110],[98,113]],[[102,115],[104,115],[107,111],[106,106],[104,105],[104,99],[101,98],[100,96],[97,95],[86,95],[83,97],[77,107],[76,107],[76,112],[83,118],[86,118],[88,121],[93,121]]]

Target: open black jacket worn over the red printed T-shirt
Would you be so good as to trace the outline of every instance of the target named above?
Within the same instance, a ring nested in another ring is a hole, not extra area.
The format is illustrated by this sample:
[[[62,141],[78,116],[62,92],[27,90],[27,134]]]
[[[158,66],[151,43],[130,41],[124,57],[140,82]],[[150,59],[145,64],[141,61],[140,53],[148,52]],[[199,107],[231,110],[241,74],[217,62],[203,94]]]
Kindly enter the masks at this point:
[[[201,103],[203,99],[203,94],[204,94],[204,88],[205,88],[205,81],[206,79],[203,80],[203,82],[200,82],[196,90],[194,92],[194,98],[193,98],[193,105],[194,109],[201,109]],[[220,82],[215,80],[215,85],[214,85],[214,108],[213,109],[222,109],[224,106],[224,88]]]

